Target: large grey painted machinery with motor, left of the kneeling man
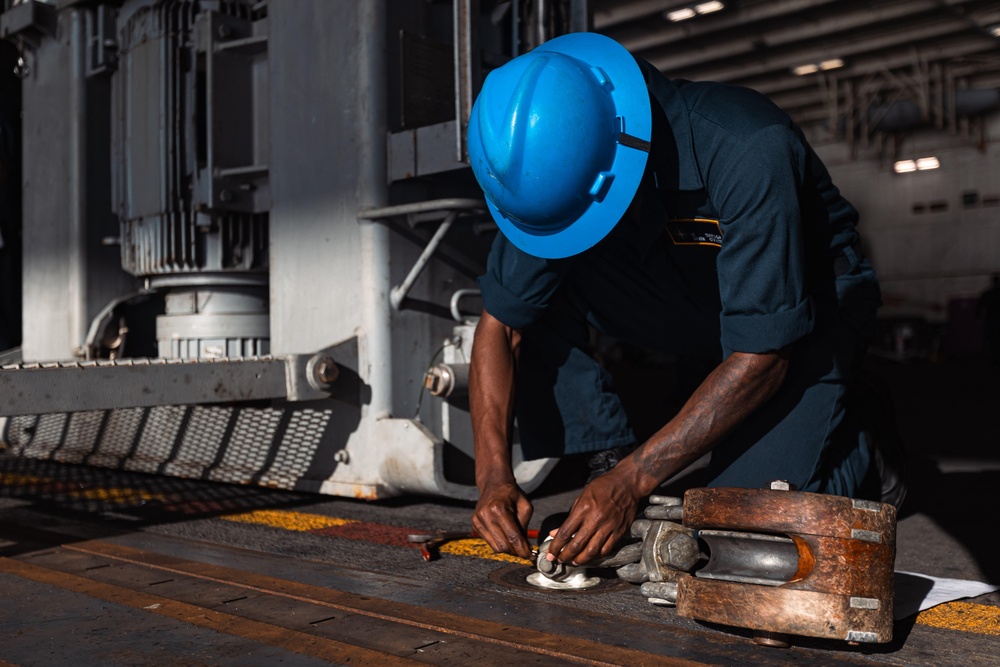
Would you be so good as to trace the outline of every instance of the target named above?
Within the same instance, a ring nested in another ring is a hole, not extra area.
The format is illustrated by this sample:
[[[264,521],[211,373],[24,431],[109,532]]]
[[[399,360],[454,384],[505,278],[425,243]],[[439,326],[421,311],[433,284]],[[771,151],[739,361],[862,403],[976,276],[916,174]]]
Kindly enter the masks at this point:
[[[8,1],[24,152],[8,446],[475,497],[463,389],[495,227],[465,120],[486,71],[588,21],[582,0],[482,5]],[[554,464],[515,459],[526,489]]]

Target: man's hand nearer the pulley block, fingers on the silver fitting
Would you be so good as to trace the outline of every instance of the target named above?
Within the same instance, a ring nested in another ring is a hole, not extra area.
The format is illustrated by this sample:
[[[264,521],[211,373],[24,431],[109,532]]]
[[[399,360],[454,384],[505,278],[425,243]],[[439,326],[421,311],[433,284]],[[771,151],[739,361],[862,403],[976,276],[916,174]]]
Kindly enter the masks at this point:
[[[584,487],[552,538],[551,557],[583,565],[611,553],[635,521],[642,497],[635,495],[626,468],[615,467]]]

